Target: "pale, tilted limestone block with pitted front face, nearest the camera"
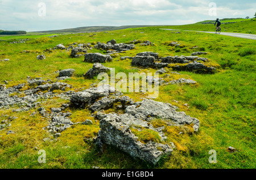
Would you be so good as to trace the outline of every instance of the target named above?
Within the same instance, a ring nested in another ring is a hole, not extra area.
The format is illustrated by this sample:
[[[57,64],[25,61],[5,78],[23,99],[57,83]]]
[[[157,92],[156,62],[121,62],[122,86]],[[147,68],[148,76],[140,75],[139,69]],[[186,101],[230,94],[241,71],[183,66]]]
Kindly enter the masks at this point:
[[[130,130],[130,126],[148,127],[147,122],[134,118],[130,114],[106,114],[100,121],[101,130],[98,132],[97,144],[106,143],[118,147],[131,157],[156,164],[164,155],[170,155],[172,148],[158,142],[142,143]],[[158,133],[155,131],[155,133]],[[159,135],[160,136],[160,135]]]

